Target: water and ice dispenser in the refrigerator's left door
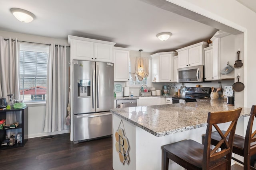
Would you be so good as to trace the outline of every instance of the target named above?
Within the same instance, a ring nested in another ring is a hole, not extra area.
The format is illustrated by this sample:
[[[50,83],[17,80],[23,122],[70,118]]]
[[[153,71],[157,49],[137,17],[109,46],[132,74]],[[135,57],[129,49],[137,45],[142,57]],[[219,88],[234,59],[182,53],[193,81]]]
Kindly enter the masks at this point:
[[[91,80],[77,80],[78,97],[91,96]]]

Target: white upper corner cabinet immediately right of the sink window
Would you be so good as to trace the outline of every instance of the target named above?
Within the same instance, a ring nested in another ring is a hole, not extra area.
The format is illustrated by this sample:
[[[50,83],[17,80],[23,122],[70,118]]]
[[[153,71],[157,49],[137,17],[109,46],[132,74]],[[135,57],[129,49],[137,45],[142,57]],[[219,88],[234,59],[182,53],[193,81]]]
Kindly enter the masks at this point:
[[[164,52],[151,55],[152,57],[152,82],[174,82],[173,56],[177,52]]]

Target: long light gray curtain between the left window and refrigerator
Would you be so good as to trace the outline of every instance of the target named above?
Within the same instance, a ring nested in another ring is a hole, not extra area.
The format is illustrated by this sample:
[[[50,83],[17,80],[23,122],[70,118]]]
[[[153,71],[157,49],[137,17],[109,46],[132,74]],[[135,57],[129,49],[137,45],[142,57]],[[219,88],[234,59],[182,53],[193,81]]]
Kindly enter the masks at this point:
[[[68,104],[68,61],[66,46],[50,46],[44,132],[69,129],[69,126],[65,125]]]

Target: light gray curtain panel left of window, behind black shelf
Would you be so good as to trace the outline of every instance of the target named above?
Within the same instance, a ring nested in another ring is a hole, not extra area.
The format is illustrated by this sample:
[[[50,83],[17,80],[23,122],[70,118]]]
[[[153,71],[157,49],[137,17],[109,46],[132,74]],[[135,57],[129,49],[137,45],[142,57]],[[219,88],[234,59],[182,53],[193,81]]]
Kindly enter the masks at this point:
[[[8,102],[8,94],[20,99],[18,42],[17,39],[12,41],[11,38],[4,40],[4,37],[0,37],[0,98],[6,98]],[[16,121],[14,112],[6,113],[6,124]]]

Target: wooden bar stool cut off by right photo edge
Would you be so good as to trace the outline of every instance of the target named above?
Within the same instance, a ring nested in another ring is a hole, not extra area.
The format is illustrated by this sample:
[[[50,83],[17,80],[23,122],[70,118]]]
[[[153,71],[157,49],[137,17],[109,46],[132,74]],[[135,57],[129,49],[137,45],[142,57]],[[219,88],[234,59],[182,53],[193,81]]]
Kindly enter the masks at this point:
[[[244,170],[254,169],[253,166],[250,166],[250,156],[256,154],[256,131],[252,133],[252,125],[254,121],[254,117],[256,117],[256,107],[253,105],[250,113],[250,118],[248,121],[246,135],[245,137],[240,135],[234,135],[234,144],[232,152],[238,154],[240,156],[244,156],[244,162],[232,157],[233,160],[239,162],[244,165]],[[225,133],[225,131],[222,131]],[[204,137],[204,135],[202,135]],[[220,141],[221,137],[217,131],[212,132],[212,140],[211,144],[216,146],[218,141]],[[223,146],[220,146],[223,148]]]

